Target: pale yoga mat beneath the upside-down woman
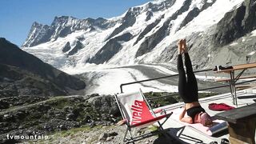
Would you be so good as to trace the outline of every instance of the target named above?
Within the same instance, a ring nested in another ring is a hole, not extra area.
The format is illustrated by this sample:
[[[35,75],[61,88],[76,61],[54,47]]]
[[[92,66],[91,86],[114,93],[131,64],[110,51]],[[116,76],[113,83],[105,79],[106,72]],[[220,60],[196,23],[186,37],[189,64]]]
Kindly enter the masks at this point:
[[[201,131],[202,133],[207,134],[209,136],[216,134],[222,130],[227,129],[227,123],[223,120],[218,120],[218,119],[213,121],[214,126],[211,126],[211,127],[203,126],[201,123],[190,124],[190,123],[186,123],[186,122],[181,122],[179,120],[179,115],[182,113],[182,110],[183,110],[183,108],[178,108],[178,109],[173,110],[173,114],[170,115],[170,118],[182,123],[182,125],[194,127],[195,129],[197,129],[197,130]],[[185,117],[186,116],[187,115],[185,114]]]

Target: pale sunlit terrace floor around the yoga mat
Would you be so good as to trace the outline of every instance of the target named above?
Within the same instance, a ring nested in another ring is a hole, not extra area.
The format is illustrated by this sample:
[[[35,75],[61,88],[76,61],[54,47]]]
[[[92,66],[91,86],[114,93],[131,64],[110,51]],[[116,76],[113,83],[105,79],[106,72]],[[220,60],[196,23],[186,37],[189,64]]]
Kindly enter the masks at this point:
[[[237,95],[238,107],[253,104],[256,101],[256,87],[246,90],[239,90],[237,91]],[[209,110],[208,105],[210,103],[226,103],[227,105],[237,107],[233,104],[230,93],[220,94],[209,98],[201,98],[199,99],[199,102],[206,110],[206,112],[210,114],[210,116],[214,116],[215,114],[222,112]],[[163,106],[162,109],[166,109],[167,113],[170,113],[172,110],[178,109],[181,106],[184,106],[183,102],[175,103],[170,106]],[[163,125],[163,127],[164,129],[168,129],[170,131],[169,133],[182,143],[210,143],[214,141],[220,143],[222,138],[229,138],[227,130],[224,133],[222,132],[221,134],[212,137],[203,134],[201,131],[194,129],[194,127],[184,126],[182,122],[179,122],[174,118],[169,118],[167,122]]]

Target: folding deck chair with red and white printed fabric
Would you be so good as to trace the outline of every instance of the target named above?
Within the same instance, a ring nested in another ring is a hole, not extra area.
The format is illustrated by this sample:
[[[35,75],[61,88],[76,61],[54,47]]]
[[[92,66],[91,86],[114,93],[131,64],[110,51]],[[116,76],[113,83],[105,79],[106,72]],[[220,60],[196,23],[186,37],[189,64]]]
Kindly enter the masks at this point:
[[[166,114],[165,110],[157,110],[158,113],[161,112],[160,116],[156,116],[156,112],[154,112],[149,103],[146,101],[145,96],[142,94],[142,90],[138,90],[132,93],[127,94],[115,94],[114,98],[118,103],[118,108],[121,111],[122,118],[126,120],[126,134],[123,138],[123,142],[135,142],[142,138],[148,138],[155,134],[167,134],[166,131],[163,130],[162,125],[166,122],[166,120],[170,117],[170,114]],[[162,118],[166,118],[163,122],[159,122]],[[131,134],[132,128],[142,128],[146,126],[150,126],[158,122],[158,130],[154,132],[150,132],[147,134],[142,134],[137,137],[134,137]],[[129,133],[130,138],[127,136]],[[167,134],[167,136],[169,136]]]

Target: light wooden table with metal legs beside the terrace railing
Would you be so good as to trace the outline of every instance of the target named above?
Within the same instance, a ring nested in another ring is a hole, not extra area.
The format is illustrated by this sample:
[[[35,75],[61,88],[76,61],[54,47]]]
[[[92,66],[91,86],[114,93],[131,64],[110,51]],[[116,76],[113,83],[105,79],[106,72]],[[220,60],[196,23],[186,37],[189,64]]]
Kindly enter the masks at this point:
[[[251,69],[251,68],[256,68],[256,62],[242,64],[242,65],[236,65],[236,66],[233,66],[233,69],[216,71],[216,73],[229,73],[230,74],[230,94],[233,98],[233,103],[236,106],[238,106],[238,98],[237,98],[235,83],[238,81],[238,79],[241,77],[241,75],[243,74],[243,72],[245,70]],[[242,70],[242,71],[235,77],[234,76],[235,70]]]

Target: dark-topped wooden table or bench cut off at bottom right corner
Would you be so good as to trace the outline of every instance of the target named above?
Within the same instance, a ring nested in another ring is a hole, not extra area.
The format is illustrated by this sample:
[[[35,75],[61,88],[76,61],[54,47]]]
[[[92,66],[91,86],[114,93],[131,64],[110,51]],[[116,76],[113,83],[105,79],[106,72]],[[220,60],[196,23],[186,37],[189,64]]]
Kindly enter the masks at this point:
[[[228,122],[230,143],[255,144],[256,103],[216,114],[215,117]]]

